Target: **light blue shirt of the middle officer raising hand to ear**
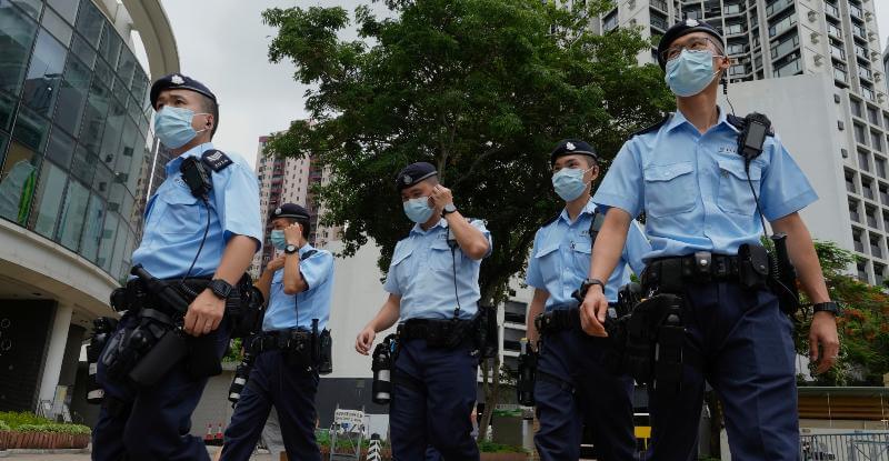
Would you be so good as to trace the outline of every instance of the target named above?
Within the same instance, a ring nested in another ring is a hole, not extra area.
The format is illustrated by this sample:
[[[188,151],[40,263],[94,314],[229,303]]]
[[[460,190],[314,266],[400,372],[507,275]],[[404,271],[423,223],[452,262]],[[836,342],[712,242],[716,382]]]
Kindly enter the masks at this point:
[[[480,220],[470,220],[470,223],[488,239],[487,258],[493,249],[491,233]],[[448,221],[442,218],[428,231],[416,224],[410,235],[396,244],[383,289],[401,297],[401,322],[408,319],[452,319],[458,300],[455,292],[459,295],[460,319],[471,319],[478,312],[481,298],[480,265],[480,260],[463,254],[459,245],[451,255]]]

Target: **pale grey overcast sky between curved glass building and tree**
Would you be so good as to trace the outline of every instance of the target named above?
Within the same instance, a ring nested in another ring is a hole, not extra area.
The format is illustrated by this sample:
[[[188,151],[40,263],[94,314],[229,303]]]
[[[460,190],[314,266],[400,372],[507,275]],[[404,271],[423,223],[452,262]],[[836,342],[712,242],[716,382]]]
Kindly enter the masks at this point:
[[[877,12],[880,52],[889,37],[889,0],[871,0]],[[348,11],[370,0],[162,0],[176,36],[182,73],[200,80],[220,102],[214,146],[254,164],[259,137],[284,130],[304,118],[307,88],[293,80],[290,62],[272,64],[269,42],[276,30],[260,13],[272,7],[339,4]],[[380,2],[371,3],[383,13]],[[353,38],[349,28],[343,37]],[[156,76],[157,77],[157,76]]]

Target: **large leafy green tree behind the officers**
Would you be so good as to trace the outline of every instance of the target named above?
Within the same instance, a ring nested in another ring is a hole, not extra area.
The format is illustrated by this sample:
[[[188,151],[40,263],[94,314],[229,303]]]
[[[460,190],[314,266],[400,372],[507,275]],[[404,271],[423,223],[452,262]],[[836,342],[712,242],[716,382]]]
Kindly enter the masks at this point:
[[[595,143],[607,160],[635,130],[653,123],[672,97],[636,30],[605,36],[590,18],[610,7],[567,8],[540,0],[386,0],[391,18],[354,11],[359,40],[342,8],[269,9],[278,29],[272,62],[296,63],[310,121],[293,123],[267,151],[311,152],[330,169],[317,189],[328,224],[343,226],[346,255],[372,240],[387,270],[409,230],[394,176],[430,161],[467,217],[482,218],[493,253],[481,265],[482,302],[497,305],[522,273],[533,235],[558,212],[548,154],[559,139]],[[575,2],[579,3],[579,2]],[[488,383],[489,408],[498,381]],[[490,411],[486,415],[489,421]],[[487,429],[482,422],[482,431]]]

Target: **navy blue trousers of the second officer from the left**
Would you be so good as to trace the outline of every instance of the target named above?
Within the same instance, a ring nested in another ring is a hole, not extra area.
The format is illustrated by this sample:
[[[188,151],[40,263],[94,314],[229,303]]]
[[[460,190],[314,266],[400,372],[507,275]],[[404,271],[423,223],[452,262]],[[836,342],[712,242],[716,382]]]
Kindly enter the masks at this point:
[[[220,460],[249,460],[274,405],[288,459],[320,461],[321,452],[314,440],[318,380],[314,370],[288,364],[281,351],[260,353],[226,428]]]

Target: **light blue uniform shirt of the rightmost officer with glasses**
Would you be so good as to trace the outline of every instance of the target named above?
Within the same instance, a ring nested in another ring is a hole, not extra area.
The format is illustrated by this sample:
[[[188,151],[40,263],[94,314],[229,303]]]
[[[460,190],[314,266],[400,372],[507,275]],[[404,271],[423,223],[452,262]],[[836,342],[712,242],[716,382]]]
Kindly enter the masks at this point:
[[[777,136],[767,137],[750,163],[750,180],[769,221],[818,199]],[[733,255],[742,243],[758,244],[763,231],[738,154],[738,130],[721,110],[705,134],[677,111],[659,129],[631,138],[593,201],[632,217],[646,212],[652,248],[646,261],[696,251]]]

